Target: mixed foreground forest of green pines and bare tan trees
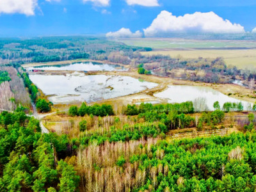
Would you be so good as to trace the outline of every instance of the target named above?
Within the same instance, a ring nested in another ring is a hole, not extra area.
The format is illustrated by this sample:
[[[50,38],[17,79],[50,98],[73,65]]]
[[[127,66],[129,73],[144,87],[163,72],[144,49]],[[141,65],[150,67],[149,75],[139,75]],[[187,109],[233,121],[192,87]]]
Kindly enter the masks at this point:
[[[1,191],[256,189],[254,115],[248,115],[248,125],[239,133],[168,140],[165,133],[171,129],[195,124],[195,118],[187,117],[195,113],[191,102],[127,106],[125,113],[132,113],[125,117],[128,124],[118,116],[82,114],[86,104],[81,108],[77,115],[85,116],[77,136],[42,134],[39,121],[21,107],[0,114]],[[93,108],[111,111],[108,105]],[[147,118],[154,111],[161,113]],[[99,128],[88,118],[97,118]],[[202,113],[198,125],[218,126],[223,121],[224,112],[216,109]]]

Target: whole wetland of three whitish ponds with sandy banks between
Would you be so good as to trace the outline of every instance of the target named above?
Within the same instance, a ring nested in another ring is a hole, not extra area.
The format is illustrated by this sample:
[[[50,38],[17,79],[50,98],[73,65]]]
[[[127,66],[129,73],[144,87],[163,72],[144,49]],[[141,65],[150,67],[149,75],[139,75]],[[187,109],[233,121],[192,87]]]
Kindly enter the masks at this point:
[[[173,84],[172,81],[163,84],[159,81],[161,77],[156,76],[152,76],[154,81],[149,76],[145,80],[140,79],[132,76],[132,72],[127,72],[128,68],[118,65],[90,62],[27,68],[29,71],[35,69],[44,70],[45,74],[32,73],[29,78],[54,104],[104,102],[128,95],[125,100],[131,104],[157,104],[163,101],[180,103],[191,100],[197,111],[214,110],[213,103],[217,100],[220,106],[225,102],[242,102],[244,109],[252,106],[250,101],[228,97],[202,84]],[[63,71],[63,74],[52,73],[56,71]],[[90,71],[96,71],[97,74],[86,74]]]

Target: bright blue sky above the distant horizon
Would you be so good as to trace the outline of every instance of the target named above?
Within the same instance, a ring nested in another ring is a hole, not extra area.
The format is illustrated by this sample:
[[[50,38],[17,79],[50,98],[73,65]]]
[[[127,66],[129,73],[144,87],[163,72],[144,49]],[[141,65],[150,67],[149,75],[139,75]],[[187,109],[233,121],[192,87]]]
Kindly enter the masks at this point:
[[[10,1],[12,1],[11,6],[8,4]],[[21,1],[23,4],[19,4]],[[143,29],[148,28],[163,10],[175,16],[195,12],[214,12],[218,17],[230,20],[232,24],[240,24],[244,27],[244,31],[252,31],[256,27],[254,0],[244,0],[243,3],[240,0],[144,0],[144,4],[138,3],[140,1],[143,2],[142,0],[0,0],[0,35],[100,35],[109,31],[118,31],[120,28],[143,32]],[[149,6],[145,5],[145,2]],[[17,7],[14,9],[13,6]],[[170,17],[168,13],[166,15],[164,17]],[[201,16],[198,15],[197,20]],[[217,16],[210,15],[209,18],[211,17]],[[177,20],[178,24],[180,22],[186,22],[186,19]],[[198,24],[200,28],[202,22]],[[182,25],[179,30],[188,28],[186,24]],[[159,29],[160,32],[156,28],[157,24],[152,27],[152,30],[155,30],[154,34],[173,30],[170,29],[171,26],[168,29]],[[196,29],[198,26],[193,28]]]

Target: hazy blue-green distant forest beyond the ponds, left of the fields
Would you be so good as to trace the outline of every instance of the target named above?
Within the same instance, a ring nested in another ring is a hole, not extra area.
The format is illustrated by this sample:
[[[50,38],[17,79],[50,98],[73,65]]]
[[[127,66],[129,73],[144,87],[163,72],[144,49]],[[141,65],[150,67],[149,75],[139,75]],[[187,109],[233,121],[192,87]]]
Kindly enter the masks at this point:
[[[152,51],[149,47],[135,47],[104,38],[63,36],[31,38],[27,40],[2,38],[0,58],[6,62],[23,64],[28,62],[51,62],[76,59],[113,60],[111,52]],[[127,56],[121,56],[120,63],[127,63]],[[116,58],[118,55],[116,54]]]

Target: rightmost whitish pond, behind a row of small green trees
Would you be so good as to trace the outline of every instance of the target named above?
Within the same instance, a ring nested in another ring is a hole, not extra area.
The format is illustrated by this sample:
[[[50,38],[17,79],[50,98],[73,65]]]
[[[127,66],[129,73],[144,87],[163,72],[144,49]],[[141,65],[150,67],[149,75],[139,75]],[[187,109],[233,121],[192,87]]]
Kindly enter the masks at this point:
[[[196,111],[212,111],[213,104],[218,100],[222,108],[225,102],[242,102],[244,109],[252,106],[250,102],[234,99],[220,93],[210,87],[204,86],[186,86],[186,85],[172,85],[168,86],[166,90],[154,94],[155,97],[169,99],[168,102],[186,102],[193,101]]]

